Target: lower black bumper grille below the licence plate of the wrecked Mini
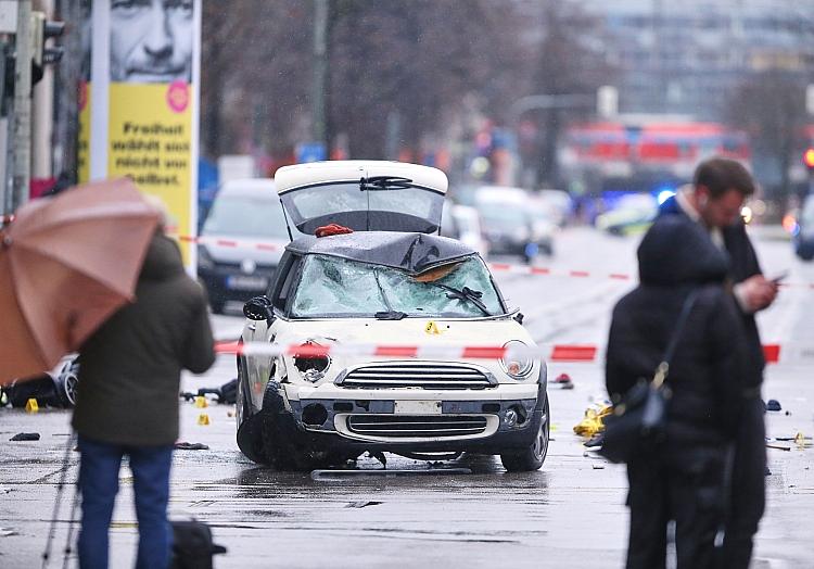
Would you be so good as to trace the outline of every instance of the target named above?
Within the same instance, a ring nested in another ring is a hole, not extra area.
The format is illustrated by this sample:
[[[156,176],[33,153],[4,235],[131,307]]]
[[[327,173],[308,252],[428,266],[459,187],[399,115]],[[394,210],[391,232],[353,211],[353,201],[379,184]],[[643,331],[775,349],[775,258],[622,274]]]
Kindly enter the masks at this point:
[[[347,428],[365,437],[417,439],[466,437],[486,430],[486,417],[456,415],[351,415]]]

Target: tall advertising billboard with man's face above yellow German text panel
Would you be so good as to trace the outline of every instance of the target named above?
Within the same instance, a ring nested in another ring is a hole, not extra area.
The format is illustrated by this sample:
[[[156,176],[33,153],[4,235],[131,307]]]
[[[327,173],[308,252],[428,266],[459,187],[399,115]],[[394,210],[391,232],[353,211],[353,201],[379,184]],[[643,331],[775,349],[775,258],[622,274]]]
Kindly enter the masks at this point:
[[[201,0],[94,4],[104,5],[93,5],[91,177],[130,177],[166,205],[168,232],[194,235]],[[194,249],[181,249],[193,267]]]

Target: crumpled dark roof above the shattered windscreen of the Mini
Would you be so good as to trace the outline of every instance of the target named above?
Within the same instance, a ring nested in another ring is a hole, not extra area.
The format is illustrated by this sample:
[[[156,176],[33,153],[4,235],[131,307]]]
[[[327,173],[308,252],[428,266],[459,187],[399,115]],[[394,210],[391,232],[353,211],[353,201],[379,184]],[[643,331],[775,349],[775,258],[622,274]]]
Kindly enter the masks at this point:
[[[476,254],[455,239],[427,233],[357,231],[329,237],[303,237],[288,244],[298,254],[331,255],[360,263],[383,265],[410,274]]]

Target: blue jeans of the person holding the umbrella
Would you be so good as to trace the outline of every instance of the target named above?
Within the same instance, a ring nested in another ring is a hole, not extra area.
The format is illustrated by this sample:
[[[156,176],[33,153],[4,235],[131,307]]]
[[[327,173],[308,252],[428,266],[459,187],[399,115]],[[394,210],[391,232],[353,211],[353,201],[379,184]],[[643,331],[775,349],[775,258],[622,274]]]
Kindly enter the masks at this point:
[[[128,455],[139,520],[137,569],[162,569],[169,565],[171,528],[167,521],[169,467],[173,446],[122,446],[92,441],[79,435],[81,461],[81,530],[79,567],[107,567],[107,529],[118,493],[118,469]]]

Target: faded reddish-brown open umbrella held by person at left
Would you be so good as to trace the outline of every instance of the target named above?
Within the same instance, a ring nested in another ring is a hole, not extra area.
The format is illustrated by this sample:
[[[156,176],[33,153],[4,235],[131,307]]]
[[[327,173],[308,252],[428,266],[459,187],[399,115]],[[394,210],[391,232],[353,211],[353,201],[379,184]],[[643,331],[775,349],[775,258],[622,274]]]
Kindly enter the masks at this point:
[[[0,384],[51,369],[132,300],[158,219],[126,178],[20,207],[0,230]]]

